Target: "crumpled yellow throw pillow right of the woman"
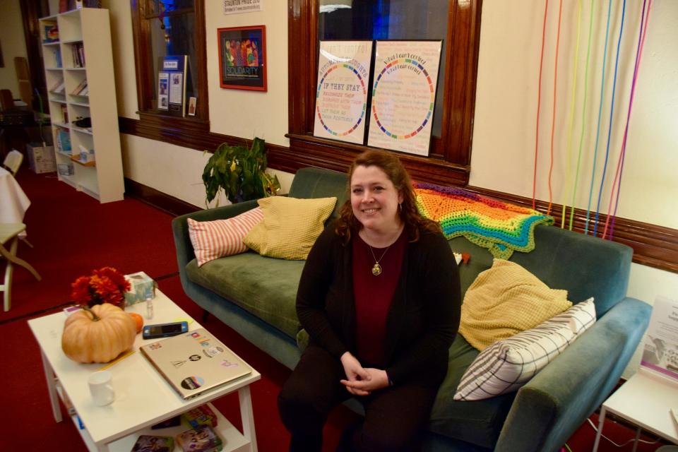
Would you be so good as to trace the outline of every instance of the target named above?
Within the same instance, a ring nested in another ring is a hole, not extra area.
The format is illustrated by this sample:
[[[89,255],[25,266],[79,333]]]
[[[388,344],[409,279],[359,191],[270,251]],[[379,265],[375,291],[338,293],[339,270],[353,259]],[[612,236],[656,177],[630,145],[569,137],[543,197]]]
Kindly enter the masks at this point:
[[[466,290],[459,332],[482,351],[571,306],[566,290],[549,289],[517,263],[494,259]]]

